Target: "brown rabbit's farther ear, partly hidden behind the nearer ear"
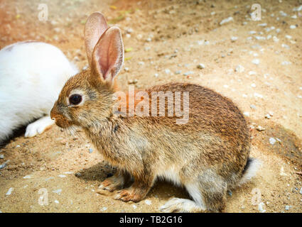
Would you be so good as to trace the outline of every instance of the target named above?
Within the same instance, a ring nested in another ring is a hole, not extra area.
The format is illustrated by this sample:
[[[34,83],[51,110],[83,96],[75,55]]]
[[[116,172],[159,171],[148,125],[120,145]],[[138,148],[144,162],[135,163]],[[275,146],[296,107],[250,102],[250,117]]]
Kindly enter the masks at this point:
[[[91,65],[92,52],[97,44],[97,41],[108,28],[106,19],[102,13],[92,13],[85,23],[84,37],[86,53],[89,64]]]

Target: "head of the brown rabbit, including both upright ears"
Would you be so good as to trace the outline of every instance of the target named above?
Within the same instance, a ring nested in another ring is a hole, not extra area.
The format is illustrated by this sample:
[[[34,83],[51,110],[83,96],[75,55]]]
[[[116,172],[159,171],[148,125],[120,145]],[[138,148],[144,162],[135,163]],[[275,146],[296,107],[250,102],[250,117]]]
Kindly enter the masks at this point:
[[[124,62],[121,31],[115,26],[108,28],[102,13],[92,13],[85,24],[85,47],[89,69],[65,83],[50,112],[62,128],[90,127],[112,114],[114,77]]]

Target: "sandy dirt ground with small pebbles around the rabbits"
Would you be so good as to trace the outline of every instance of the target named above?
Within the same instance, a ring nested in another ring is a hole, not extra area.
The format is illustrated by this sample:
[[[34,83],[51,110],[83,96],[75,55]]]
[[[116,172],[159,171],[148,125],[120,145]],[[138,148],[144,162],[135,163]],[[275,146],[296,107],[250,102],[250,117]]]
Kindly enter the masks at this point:
[[[53,0],[47,1],[46,22],[38,19],[41,3],[0,0],[1,48],[41,40],[61,48],[82,69],[85,20],[102,11],[123,31],[122,89],[129,82],[139,89],[196,83],[230,97],[244,112],[251,156],[263,165],[251,182],[229,192],[225,212],[302,211],[301,0],[257,1],[261,21],[251,20],[251,0]],[[220,25],[230,16],[232,21]],[[68,135],[53,126],[35,138],[19,134],[0,148],[0,165],[7,162],[0,170],[1,212],[158,212],[169,198],[188,197],[168,182],[156,182],[136,204],[97,194],[112,170],[82,132]]]

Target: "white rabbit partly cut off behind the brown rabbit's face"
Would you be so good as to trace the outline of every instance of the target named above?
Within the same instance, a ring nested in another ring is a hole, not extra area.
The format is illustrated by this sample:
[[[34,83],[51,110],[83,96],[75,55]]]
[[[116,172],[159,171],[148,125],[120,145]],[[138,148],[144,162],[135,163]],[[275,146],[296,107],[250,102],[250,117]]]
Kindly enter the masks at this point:
[[[63,52],[48,43],[26,41],[0,50],[0,143],[37,118],[26,127],[26,137],[50,127],[50,109],[77,72]]]

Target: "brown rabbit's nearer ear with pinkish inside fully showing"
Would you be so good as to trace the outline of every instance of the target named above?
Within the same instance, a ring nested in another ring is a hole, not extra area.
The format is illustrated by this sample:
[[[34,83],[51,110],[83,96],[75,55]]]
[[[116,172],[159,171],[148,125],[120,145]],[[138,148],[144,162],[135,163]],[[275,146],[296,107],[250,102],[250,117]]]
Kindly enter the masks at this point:
[[[92,53],[92,70],[112,83],[124,62],[122,33],[117,27],[108,28],[99,38]]]

